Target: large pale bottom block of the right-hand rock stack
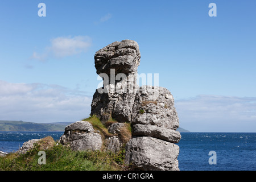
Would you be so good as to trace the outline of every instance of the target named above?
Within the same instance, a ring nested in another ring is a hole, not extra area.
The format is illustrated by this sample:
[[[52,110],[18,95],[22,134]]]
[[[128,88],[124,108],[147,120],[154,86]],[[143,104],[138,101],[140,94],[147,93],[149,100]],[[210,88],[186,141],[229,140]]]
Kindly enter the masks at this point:
[[[125,163],[146,171],[177,171],[179,146],[152,137],[137,137],[126,145]]]

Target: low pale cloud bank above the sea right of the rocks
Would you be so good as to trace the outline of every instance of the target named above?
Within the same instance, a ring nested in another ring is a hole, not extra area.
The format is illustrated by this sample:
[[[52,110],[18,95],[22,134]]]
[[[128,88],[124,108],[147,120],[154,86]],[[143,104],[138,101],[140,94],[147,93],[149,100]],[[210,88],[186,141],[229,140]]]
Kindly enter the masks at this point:
[[[256,98],[200,95],[175,102],[180,126],[191,131],[256,131]]]

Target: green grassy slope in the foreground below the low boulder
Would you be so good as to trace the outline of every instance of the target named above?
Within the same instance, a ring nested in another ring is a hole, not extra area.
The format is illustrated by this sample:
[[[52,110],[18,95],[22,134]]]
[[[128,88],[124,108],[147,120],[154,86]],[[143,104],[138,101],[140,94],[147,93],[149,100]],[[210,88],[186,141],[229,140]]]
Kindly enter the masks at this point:
[[[46,143],[44,142],[42,143]],[[26,154],[10,153],[0,158],[0,171],[119,171],[127,170],[123,164],[125,148],[118,153],[104,151],[72,151],[67,146],[55,144],[44,150],[46,164],[39,165],[38,152],[42,150],[42,143]],[[48,146],[48,144],[47,144]]]

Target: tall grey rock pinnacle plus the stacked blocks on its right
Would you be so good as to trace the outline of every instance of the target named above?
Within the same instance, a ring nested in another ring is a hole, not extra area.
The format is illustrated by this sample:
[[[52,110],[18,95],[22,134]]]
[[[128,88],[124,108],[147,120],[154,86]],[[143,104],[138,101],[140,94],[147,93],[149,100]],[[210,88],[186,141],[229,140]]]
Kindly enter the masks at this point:
[[[132,138],[126,144],[126,164],[141,170],[179,170],[177,156],[181,136],[174,97],[166,88],[138,87],[141,53],[137,42],[109,44],[94,56],[104,86],[93,96],[91,115],[130,122]]]

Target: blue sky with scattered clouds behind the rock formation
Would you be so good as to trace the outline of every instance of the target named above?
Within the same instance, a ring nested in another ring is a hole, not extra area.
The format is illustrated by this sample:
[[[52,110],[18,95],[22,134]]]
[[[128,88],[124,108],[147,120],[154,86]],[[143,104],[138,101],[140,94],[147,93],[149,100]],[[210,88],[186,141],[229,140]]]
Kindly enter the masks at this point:
[[[46,4],[46,17],[38,4]],[[210,17],[209,3],[217,16]],[[94,53],[135,40],[180,127],[256,132],[256,2],[1,1],[0,120],[79,121],[97,85]]]

